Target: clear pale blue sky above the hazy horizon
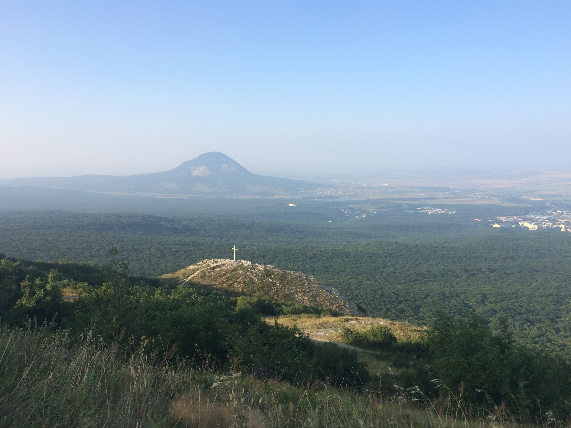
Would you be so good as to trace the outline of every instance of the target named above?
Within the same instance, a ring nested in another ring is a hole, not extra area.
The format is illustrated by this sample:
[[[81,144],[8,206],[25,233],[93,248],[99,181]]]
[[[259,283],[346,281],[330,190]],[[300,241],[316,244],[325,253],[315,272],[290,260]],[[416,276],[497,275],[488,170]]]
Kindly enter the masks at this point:
[[[0,178],[571,169],[571,2],[0,2]]]

